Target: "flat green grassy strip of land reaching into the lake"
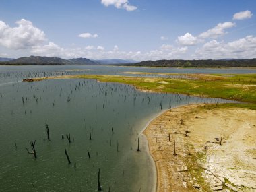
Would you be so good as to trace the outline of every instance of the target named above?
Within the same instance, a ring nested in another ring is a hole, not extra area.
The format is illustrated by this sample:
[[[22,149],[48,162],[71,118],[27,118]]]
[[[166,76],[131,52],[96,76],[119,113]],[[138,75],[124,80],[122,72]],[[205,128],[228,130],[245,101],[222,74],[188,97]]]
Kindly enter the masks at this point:
[[[256,74],[180,75],[182,78],[179,79],[108,75],[78,75],[76,77],[131,84],[146,91],[224,98],[256,104]]]

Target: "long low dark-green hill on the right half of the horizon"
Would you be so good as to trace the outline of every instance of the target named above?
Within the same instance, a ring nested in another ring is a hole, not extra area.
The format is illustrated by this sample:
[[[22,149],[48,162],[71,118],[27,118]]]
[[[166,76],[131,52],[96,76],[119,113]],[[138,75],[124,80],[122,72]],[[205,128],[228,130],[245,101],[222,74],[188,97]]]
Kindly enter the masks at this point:
[[[141,61],[128,65],[146,67],[256,67],[256,59],[158,60]]]

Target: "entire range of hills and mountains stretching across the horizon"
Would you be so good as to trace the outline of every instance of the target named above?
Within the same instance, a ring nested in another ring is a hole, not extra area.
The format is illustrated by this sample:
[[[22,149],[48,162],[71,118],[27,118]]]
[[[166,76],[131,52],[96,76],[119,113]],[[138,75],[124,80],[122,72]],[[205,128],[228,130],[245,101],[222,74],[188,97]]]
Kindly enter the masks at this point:
[[[62,59],[60,57],[30,56],[18,59],[1,58],[0,65],[125,65],[142,67],[256,67],[256,59],[157,60],[133,61],[124,59],[92,60],[87,58]]]

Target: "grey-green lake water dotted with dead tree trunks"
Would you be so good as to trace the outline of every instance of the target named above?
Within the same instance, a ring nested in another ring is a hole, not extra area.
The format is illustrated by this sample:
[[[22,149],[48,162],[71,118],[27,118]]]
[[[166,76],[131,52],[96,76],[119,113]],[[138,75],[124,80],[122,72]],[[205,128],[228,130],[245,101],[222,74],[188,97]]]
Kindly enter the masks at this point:
[[[104,191],[109,185],[110,191],[154,191],[155,168],[141,135],[148,121],[170,107],[228,102],[139,92],[125,84],[90,79],[20,82],[36,75],[120,72],[120,67],[106,66],[66,71],[76,67],[0,66],[1,191],[97,191],[99,168]],[[69,133],[71,143],[61,138]],[[36,159],[26,151],[31,151],[32,140],[36,140]]]

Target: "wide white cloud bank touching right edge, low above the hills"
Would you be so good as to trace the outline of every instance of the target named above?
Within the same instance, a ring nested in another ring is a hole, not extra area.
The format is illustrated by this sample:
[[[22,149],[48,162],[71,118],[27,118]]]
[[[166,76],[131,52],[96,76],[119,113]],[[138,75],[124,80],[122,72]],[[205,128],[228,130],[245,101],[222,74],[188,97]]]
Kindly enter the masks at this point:
[[[200,59],[255,58],[256,37],[246,36],[233,42],[211,40],[195,51]]]

